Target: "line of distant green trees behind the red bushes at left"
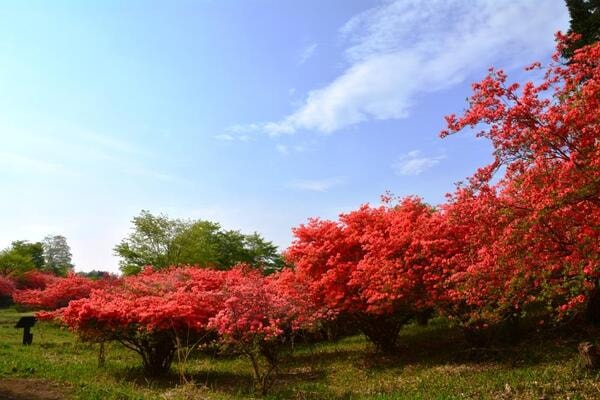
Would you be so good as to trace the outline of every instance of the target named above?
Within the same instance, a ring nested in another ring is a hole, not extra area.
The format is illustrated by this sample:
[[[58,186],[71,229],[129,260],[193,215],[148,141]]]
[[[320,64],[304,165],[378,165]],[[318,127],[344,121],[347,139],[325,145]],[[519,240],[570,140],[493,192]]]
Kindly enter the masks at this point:
[[[228,270],[247,264],[271,274],[284,267],[276,245],[254,232],[244,234],[225,230],[205,220],[170,218],[142,210],[133,218],[131,233],[114,248],[121,258],[124,275],[134,275],[144,266],[163,269],[168,266],[194,265]],[[62,235],[49,235],[41,242],[15,240],[0,251],[0,276],[18,277],[27,271],[66,276],[73,271],[71,249]],[[91,279],[106,277],[108,272],[81,273]]]

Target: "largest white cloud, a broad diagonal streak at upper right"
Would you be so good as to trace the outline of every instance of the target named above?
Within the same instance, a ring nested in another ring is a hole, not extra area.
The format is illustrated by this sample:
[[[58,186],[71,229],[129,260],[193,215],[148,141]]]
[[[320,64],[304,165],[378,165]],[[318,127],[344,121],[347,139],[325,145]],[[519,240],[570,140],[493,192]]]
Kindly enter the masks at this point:
[[[385,1],[340,29],[348,66],[337,78],[278,121],[237,127],[276,136],[405,118],[421,94],[549,54],[567,24],[562,2]]]

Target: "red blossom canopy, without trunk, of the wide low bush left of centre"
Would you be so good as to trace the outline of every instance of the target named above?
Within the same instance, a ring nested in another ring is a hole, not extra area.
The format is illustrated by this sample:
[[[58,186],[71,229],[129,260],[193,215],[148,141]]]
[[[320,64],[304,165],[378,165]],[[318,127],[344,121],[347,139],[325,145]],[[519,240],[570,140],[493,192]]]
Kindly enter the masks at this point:
[[[84,336],[111,330],[202,331],[220,298],[211,296],[222,282],[217,271],[198,268],[147,268],[87,299],[74,301],[58,317]]]

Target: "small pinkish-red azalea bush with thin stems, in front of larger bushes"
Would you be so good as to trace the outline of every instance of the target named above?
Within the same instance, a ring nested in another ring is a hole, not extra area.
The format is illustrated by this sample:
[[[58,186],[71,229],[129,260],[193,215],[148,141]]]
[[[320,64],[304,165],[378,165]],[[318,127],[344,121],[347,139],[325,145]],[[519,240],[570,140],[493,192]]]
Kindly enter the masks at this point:
[[[246,355],[252,362],[255,382],[265,394],[279,351],[294,332],[312,328],[319,314],[307,282],[292,270],[265,277],[260,271],[238,266],[226,275],[222,286],[225,299],[210,321],[225,344]],[[267,361],[261,368],[259,356]]]

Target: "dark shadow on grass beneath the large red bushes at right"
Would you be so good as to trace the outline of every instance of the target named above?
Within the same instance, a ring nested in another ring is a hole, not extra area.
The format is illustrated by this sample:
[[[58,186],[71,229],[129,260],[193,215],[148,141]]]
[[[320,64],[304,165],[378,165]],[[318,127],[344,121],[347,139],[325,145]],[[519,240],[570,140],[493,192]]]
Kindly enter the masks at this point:
[[[523,325],[519,338],[493,339],[480,347],[470,344],[459,327],[439,322],[427,327],[410,325],[400,333],[398,348],[392,354],[376,353],[368,344],[361,347],[356,343],[351,349],[344,346],[343,350],[332,344],[316,345],[294,354],[290,364],[316,364],[327,369],[333,364],[351,361],[361,369],[372,371],[453,364],[533,366],[571,359],[577,351],[577,343],[600,334],[597,328],[577,324],[551,330],[539,330],[527,321]]]

